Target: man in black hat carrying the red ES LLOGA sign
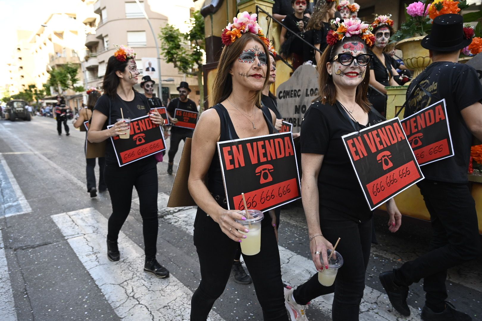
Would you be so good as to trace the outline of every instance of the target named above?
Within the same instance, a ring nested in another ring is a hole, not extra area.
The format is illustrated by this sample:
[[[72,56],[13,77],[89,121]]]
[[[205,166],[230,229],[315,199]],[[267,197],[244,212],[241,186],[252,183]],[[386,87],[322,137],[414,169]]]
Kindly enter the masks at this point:
[[[179,91],[179,98],[174,98],[167,106],[167,117],[172,124],[177,123],[177,118],[174,117],[174,110],[176,108],[192,111],[195,113],[198,112],[196,103],[187,98],[187,95],[189,94],[189,92],[191,92],[191,90],[186,81],[181,81],[181,84],[179,85],[179,87],[177,87],[177,91]],[[177,149],[179,148],[179,143],[181,142],[181,140],[186,141],[186,138],[188,137],[192,138],[193,132],[194,130],[189,128],[181,128],[175,126],[171,128],[171,146],[169,147],[169,152],[167,153],[167,155],[169,156],[167,173],[169,175],[173,173],[174,156],[177,153]]]

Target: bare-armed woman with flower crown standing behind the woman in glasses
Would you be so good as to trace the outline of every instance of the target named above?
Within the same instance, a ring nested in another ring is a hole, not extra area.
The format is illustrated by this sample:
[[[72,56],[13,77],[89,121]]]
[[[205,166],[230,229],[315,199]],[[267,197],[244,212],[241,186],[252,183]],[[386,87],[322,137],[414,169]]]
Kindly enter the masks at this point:
[[[398,86],[394,77],[398,78],[398,72],[391,65],[388,53],[383,52],[388,45],[388,39],[393,35],[393,20],[391,14],[377,15],[372,24],[375,35],[375,45],[371,53],[373,60],[370,63],[370,85],[375,88],[368,91],[368,100],[375,109],[385,115],[387,108],[387,90],[385,86]],[[380,92],[383,94],[380,94]]]

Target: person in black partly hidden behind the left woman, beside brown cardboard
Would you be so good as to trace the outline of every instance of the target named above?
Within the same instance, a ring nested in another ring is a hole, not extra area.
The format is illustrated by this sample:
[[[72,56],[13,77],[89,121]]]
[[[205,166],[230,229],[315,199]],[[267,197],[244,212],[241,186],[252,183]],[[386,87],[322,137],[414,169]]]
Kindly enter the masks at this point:
[[[75,128],[80,128],[80,131],[87,131],[83,130],[84,122],[91,120],[92,112],[94,110],[95,103],[100,97],[100,92],[97,90],[87,90],[89,97],[87,98],[87,108],[80,109],[79,118],[74,123]],[[82,129],[83,128],[83,129]],[[85,133],[85,139],[87,140],[87,133]],[[87,142],[86,142],[87,143]],[[95,188],[95,158],[86,158],[85,159],[87,165],[85,167],[86,177],[87,177],[87,192],[90,193],[91,197],[97,196],[97,189]],[[107,185],[104,181],[104,168],[106,167],[106,158],[99,157],[99,192],[107,191]]]

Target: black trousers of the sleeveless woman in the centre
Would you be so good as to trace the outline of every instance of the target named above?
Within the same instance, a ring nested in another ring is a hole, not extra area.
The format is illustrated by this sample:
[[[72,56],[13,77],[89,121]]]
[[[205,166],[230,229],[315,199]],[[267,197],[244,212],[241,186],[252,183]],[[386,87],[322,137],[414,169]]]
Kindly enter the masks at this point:
[[[271,218],[267,215],[261,225],[261,252],[243,256],[265,321],[288,321],[284,307],[281,282],[280,252]],[[239,243],[221,231],[211,217],[198,208],[194,222],[194,245],[201,268],[201,283],[192,295],[191,321],[205,321],[214,301],[221,296]]]

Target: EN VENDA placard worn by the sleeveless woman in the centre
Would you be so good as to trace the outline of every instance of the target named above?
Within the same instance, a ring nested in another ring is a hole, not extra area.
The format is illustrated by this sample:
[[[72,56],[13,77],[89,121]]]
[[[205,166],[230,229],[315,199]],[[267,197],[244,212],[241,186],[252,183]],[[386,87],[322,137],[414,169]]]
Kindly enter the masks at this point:
[[[301,198],[291,133],[217,143],[228,209],[266,212]]]

